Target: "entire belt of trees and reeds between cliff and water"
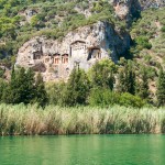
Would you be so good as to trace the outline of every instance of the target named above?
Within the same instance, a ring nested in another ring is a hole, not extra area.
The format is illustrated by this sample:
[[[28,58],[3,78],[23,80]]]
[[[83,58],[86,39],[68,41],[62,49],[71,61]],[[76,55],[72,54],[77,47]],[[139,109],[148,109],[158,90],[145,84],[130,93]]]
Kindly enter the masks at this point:
[[[124,63],[103,59],[88,73],[75,67],[67,82],[46,88],[41,74],[13,68],[0,82],[0,135],[165,133],[164,108],[148,105],[145,70],[139,84],[132,61]],[[164,86],[162,68],[156,106],[165,106]]]

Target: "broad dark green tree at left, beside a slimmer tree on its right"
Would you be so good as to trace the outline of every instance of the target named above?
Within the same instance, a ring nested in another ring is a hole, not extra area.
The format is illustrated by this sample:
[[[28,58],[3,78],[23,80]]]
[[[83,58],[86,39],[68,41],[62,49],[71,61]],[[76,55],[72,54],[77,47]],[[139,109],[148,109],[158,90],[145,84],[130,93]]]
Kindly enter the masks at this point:
[[[32,69],[25,70],[12,68],[11,80],[4,90],[3,101],[6,103],[30,103],[34,98],[34,73]]]

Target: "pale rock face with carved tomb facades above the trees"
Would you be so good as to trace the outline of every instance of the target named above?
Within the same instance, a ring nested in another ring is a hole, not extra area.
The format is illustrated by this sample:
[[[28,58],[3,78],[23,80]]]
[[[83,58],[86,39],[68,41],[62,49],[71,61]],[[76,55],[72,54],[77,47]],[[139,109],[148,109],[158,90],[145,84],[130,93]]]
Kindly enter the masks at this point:
[[[19,50],[16,65],[42,72],[45,81],[66,79],[74,66],[87,70],[101,58],[117,62],[129,47],[128,33],[120,34],[111,24],[98,22],[69,32],[62,42],[32,38]]]

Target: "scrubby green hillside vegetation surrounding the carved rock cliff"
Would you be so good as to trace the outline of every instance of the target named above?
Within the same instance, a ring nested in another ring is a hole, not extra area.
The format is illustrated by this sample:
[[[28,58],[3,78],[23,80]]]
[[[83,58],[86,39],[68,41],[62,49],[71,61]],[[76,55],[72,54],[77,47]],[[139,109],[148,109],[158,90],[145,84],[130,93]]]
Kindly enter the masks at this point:
[[[132,15],[128,26],[108,0],[0,0],[0,66],[4,67],[0,67],[0,77],[6,78],[18,50],[31,37],[62,40],[69,31],[99,20],[110,22],[118,31],[130,31],[132,45],[121,57],[133,59],[140,81],[145,67],[154,98],[158,69],[165,66],[165,10],[142,11]]]

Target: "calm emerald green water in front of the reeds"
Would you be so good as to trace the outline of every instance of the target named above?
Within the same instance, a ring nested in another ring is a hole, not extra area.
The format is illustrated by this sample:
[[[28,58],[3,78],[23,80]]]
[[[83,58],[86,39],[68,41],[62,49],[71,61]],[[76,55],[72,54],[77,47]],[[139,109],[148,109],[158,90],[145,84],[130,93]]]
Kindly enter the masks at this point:
[[[165,135],[0,138],[0,165],[165,165]]]

